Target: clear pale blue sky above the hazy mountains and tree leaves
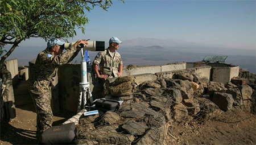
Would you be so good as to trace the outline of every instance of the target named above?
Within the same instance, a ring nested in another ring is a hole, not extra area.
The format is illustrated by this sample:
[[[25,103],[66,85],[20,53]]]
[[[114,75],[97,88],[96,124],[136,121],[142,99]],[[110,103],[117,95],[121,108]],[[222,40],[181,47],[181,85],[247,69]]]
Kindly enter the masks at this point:
[[[255,49],[255,1],[113,1],[108,11],[86,11],[85,35],[74,40],[108,42],[133,38],[180,39],[208,45]],[[33,39],[34,40],[34,39]],[[37,44],[46,45],[36,39]],[[71,40],[71,39],[70,39]],[[22,45],[33,45],[31,40]]]

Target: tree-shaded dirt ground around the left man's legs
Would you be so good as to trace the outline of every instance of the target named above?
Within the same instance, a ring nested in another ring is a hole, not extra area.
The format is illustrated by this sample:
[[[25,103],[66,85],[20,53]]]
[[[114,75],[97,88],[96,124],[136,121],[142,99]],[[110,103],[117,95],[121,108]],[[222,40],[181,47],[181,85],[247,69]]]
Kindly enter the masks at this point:
[[[71,118],[75,113],[64,112],[55,114],[53,125],[59,125]],[[37,144],[36,113],[34,105],[16,107],[16,118],[9,123],[1,122],[0,144]]]

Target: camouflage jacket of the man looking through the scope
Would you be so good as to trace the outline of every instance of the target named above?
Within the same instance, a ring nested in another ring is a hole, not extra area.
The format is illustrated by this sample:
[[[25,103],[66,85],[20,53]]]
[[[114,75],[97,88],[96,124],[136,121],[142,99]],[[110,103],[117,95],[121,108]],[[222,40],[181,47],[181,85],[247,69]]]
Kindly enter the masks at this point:
[[[46,48],[36,58],[35,65],[32,67],[30,82],[51,82],[52,77],[57,73],[57,68],[72,61],[78,53],[79,50],[76,49],[75,45],[72,45],[66,52],[57,56],[51,55],[51,51]]]

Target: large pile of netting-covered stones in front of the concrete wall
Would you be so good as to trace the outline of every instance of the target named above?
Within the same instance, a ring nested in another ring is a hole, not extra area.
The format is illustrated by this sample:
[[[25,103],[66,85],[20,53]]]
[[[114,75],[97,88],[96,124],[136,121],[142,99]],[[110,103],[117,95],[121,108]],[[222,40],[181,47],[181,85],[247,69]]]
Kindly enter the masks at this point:
[[[176,72],[171,78],[139,84],[123,100],[119,110],[80,118],[80,144],[168,144],[173,123],[191,119],[206,121],[234,106],[250,107],[249,85],[209,82],[190,72]]]

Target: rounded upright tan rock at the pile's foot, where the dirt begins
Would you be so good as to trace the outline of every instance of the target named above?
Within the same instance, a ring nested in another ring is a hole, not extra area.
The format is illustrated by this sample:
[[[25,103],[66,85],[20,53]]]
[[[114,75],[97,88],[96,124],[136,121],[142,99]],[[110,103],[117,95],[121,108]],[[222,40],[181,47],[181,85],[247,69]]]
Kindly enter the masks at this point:
[[[184,121],[184,119],[188,116],[188,110],[182,103],[179,103],[173,107],[173,113],[173,118],[177,122]]]

